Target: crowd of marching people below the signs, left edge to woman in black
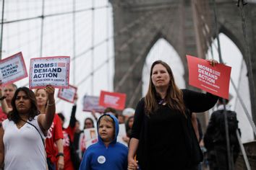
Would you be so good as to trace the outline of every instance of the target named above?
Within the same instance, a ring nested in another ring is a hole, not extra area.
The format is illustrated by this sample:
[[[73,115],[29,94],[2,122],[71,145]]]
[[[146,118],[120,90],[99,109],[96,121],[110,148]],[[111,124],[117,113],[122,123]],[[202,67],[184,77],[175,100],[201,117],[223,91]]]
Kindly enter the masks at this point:
[[[217,62],[209,64],[215,66]],[[2,88],[2,168],[199,169],[203,159],[199,145],[202,130],[198,128],[196,112],[208,111],[218,97],[179,89],[167,63],[153,63],[148,92],[132,114],[120,114],[109,107],[97,117],[92,111],[93,117],[86,118],[83,127],[96,128],[98,138],[89,147],[81,144],[85,134],[75,117],[77,96],[69,125],[64,128],[66,118],[62,113],[56,114],[54,91],[51,85],[35,91],[14,84]],[[117,140],[120,124],[125,125],[127,135],[122,140],[127,145]]]

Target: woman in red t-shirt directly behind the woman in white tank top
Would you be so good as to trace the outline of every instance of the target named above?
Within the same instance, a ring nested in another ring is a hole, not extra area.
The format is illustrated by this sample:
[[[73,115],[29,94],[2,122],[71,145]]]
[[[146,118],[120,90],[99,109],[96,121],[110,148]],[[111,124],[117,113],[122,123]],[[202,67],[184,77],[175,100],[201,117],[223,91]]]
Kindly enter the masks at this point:
[[[46,114],[48,94],[46,89],[36,89],[35,98],[41,115]],[[64,148],[61,120],[54,114],[54,121],[46,136],[46,154],[49,170],[64,169]]]

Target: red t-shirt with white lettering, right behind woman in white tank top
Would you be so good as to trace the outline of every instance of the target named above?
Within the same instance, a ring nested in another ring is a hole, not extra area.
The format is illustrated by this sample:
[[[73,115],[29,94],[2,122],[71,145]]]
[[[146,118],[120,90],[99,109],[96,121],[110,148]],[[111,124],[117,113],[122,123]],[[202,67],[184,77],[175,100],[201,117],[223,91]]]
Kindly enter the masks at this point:
[[[57,162],[56,155],[58,154],[58,149],[56,147],[56,140],[63,139],[61,120],[58,115],[54,115],[54,122],[51,124],[51,128],[48,129],[48,134],[46,137],[46,153],[47,158],[51,159],[52,163]]]

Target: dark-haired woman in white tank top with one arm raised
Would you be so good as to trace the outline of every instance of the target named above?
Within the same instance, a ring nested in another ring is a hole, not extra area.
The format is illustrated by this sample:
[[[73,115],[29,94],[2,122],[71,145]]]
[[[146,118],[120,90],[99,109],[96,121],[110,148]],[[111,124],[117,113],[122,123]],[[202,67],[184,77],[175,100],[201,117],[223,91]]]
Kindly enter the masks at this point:
[[[54,87],[46,86],[46,114],[39,115],[35,94],[20,87],[12,98],[12,111],[0,128],[0,164],[4,169],[46,169],[44,139],[54,120]]]

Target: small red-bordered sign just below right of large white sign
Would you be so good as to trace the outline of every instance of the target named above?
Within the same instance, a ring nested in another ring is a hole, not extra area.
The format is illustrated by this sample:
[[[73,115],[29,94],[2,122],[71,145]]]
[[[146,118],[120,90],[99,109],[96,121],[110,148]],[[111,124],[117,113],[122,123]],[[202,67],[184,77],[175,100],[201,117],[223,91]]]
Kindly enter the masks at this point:
[[[68,89],[59,89],[58,97],[67,102],[74,103],[74,97],[77,93],[77,87],[69,85]]]

